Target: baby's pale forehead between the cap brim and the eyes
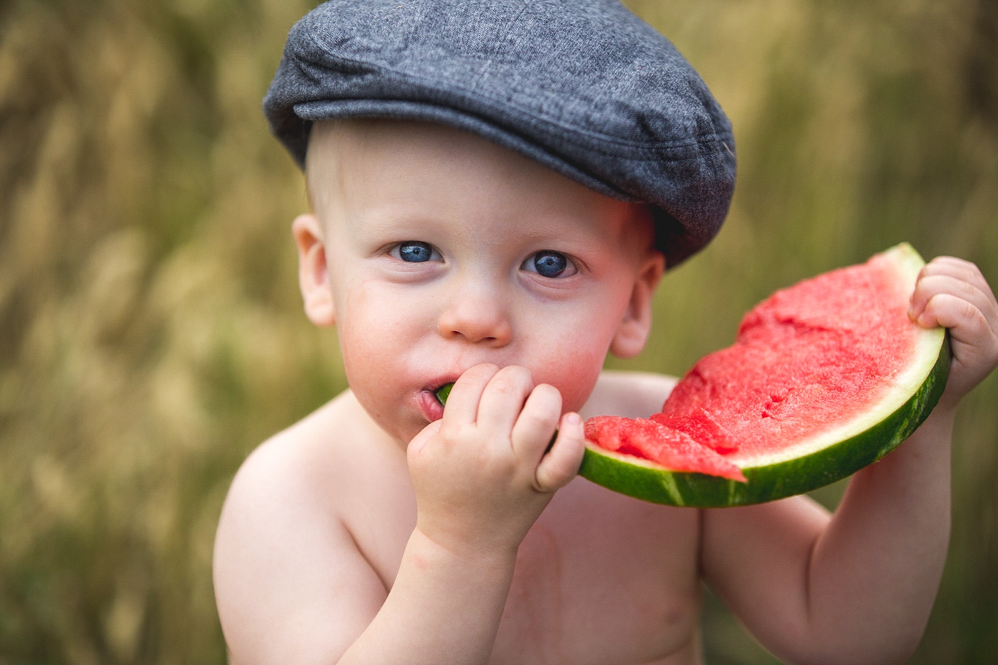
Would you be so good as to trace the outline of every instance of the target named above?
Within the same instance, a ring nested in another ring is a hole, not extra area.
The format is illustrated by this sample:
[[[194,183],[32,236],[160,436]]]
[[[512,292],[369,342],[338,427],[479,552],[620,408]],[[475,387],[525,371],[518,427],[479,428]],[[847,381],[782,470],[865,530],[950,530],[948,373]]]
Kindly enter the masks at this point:
[[[317,122],[305,169],[312,205],[326,223],[376,209],[577,219],[618,239],[633,235],[636,225],[639,234],[651,233],[644,206],[610,198],[478,136],[435,123]]]

